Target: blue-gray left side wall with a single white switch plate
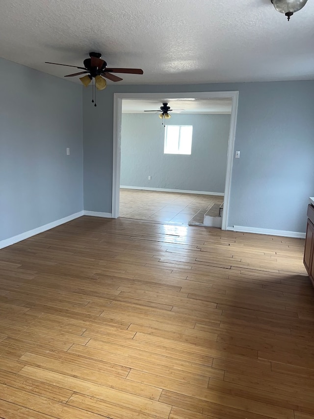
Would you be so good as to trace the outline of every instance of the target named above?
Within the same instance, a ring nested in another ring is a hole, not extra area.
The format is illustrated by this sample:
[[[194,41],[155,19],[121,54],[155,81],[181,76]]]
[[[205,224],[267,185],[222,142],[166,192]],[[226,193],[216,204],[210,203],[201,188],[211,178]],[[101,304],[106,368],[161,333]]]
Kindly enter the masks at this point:
[[[0,59],[0,241],[83,209],[81,95]]]

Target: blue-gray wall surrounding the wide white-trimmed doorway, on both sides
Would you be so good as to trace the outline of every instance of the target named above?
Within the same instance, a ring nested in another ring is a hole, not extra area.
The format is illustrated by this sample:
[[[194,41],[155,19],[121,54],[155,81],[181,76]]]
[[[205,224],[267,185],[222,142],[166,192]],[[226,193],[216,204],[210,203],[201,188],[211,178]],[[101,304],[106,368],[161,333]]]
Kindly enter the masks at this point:
[[[314,195],[314,81],[83,89],[84,208],[111,212],[114,92],[239,91],[229,226],[304,232]]]

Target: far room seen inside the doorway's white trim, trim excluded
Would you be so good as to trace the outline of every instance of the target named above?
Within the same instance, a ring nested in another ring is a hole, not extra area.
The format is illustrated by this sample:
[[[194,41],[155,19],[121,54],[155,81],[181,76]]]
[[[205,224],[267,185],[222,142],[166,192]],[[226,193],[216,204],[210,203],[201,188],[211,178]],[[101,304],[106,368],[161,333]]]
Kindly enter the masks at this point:
[[[211,211],[221,226],[231,106],[230,99],[124,100],[119,216],[204,225]]]

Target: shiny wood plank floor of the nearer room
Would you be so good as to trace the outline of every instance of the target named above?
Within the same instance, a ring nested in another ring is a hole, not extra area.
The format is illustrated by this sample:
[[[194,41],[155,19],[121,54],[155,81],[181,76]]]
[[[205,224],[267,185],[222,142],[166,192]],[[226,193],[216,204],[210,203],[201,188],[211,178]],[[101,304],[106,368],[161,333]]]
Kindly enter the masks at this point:
[[[313,419],[304,240],[82,217],[0,251],[0,418]]]

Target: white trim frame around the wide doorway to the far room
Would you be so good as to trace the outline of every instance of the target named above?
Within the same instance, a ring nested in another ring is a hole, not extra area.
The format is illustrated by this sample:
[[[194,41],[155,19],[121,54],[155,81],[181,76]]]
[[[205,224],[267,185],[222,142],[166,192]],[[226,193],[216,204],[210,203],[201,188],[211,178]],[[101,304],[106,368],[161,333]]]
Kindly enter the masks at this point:
[[[121,168],[121,124],[122,124],[122,103],[125,99],[125,102],[136,101],[140,104],[141,101],[158,101],[165,100],[167,98],[171,103],[189,103],[193,104],[195,107],[196,101],[206,102],[206,100],[218,100],[221,102],[225,99],[229,99],[231,103],[231,112],[230,113],[230,128],[229,128],[229,137],[228,137],[228,149],[227,149],[227,170],[225,177],[225,187],[224,187],[224,211],[222,217],[222,229],[226,229],[228,222],[228,211],[229,211],[229,197],[230,197],[230,185],[231,185],[231,172],[232,172],[232,163],[233,163],[233,154],[234,154],[234,140],[235,140],[235,122],[236,122],[236,111],[237,111],[237,99],[238,92],[192,92],[192,93],[116,93],[114,94],[114,139],[113,139],[113,184],[112,184],[112,216],[114,218],[119,217],[119,198],[120,198],[120,168]],[[183,102],[182,102],[183,101]],[[192,101],[195,101],[194,103]],[[173,106],[173,108],[175,108]],[[140,109],[143,109],[143,106],[140,105]],[[153,108],[154,109],[154,108]],[[157,108],[158,109],[158,108]],[[202,112],[200,112],[202,113]],[[206,112],[203,112],[206,113]],[[217,112],[219,113],[219,112]],[[222,112],[223,113],[223,112]],[[158,116],[158,115],[156,115]],[[155,116],[154,116],[155,118]],[[144,188],[145,189],[145,188]],[[151,188],[146,188],[151,189]],[[177,189],[177,188],[176,188]],[[189,188],[190,191],[190,188]],[[143,191],[145,192],[145,191]],[[167,191],[178,194],[177,196],[167,196],[166,200],[175,199],[179,203],[180,201],[186,201],[189,197],[186,195],[183,197],[183,192],[187,191]],[[191,191],[195,196],[190,196],[190,198],[197,198],[197,191]],[[220,194],[222,195],[222,194]],[[181,197],[182,196],[182,197]],[[179,200],[178,200],[179,199]],[[201,200],[206,199],[206,196],[201,196]],[[179,208],[178,208],[179,209]],[[180,216],[179,216],[180,217]],[[182,216],[181,216],[182,217]],[[187,217],[187,216],[185,216]]]

